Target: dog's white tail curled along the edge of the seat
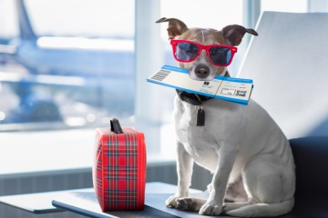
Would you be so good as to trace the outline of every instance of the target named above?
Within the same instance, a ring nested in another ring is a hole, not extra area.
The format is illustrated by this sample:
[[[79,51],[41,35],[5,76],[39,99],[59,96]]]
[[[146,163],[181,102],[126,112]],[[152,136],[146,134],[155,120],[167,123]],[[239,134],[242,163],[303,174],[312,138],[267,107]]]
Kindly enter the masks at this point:
[[[294,199],[289,199],[282,203],[254,203],[227,212],[231,216],[241,217],[273,217],[280,216],[292,211]]]

